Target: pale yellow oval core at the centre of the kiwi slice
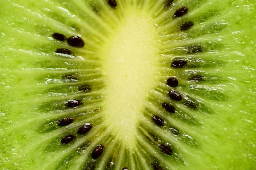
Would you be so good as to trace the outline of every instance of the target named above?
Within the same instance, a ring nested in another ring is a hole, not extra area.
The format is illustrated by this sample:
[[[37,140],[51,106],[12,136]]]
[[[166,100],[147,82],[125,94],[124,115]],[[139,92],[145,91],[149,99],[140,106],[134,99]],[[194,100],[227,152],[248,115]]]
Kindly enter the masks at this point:
[[[128,147],[143,119],[149,92],[157,85],[156,30],[146,14],[131,11],[102,51],[106,79],[102,113],[113,134]]]

